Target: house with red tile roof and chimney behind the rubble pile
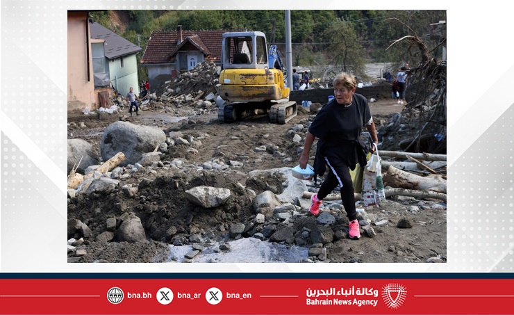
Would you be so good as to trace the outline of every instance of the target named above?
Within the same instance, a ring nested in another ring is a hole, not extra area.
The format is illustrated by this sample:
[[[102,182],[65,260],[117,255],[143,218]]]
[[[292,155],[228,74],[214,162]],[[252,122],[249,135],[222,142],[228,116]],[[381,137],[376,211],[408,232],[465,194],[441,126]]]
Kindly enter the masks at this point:
[[[165,81],[194,68],[205,60],[221,65],[222,35],[227,31],[154,31],[141,58],[148,67],[151,92],[158,90]]]

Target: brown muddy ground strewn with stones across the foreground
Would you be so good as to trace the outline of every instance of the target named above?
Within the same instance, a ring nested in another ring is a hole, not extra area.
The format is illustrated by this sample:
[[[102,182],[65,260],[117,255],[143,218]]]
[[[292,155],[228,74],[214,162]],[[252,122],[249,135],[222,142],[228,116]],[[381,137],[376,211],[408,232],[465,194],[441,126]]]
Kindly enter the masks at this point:
[[[370,108],[378,128],[387,124],[392,113],[400,112],[403,105],[392,99],[381,99],[370,103]],[[281,193],[283,180],[270,177],[261,180],[247,180],[251,170],[269,170],[274,168],[294,167],[298,164],[301,143],[293,143],[288,131],[295,124],[307,123],[313,118],[312,113],[302,110],[288,124],[270,124],[266,117],[249,118],[240,122],[224,124],[217,122],[217,113],[190,116],[189,108],[179,108],[176,116],[188,117],[176,121],[167,113],[159,110],[141,111],[142,115],[130,118],[126,108],[120,110],[125,119],[135,124],[145,124],[163,130],[181,131],[195,138],[208,134],[202,140],[203,145],[197,154],[174,148],[167,159],[181,159],[193,165],[202,165],[206,161],[219,159],[225,163],[240,161],[242,166],[229,172],[198,171],[194,168],[185,172],[173,169],[145,168],[124,179],[122,184],[138,185],[143,179],[150,179],[147,186],[140,185],[135,197],[126,197],[121,189],[106,196],[84,196],[72,198],[68,206],[68,218],[78,218],[92,230],[92,236],[85,238],[83,248],[85,255],[74,257],[69,254],[70,262],[164,262],[176,257],[170,256],[169,244],[190,244],[192,234],[204,237],[204,248],[213,242],[223,242],[233,223],[243,223],[247,227],[242,236],[248,237],[262,232],[264,225],[249,226],[256,213],[252,207],[252,197],[246,188],[257,194],[263,191]],[[113,120],[99,120],[96,115],[69,113],[68,122],[80,124],[86,128],[68,127],[68,138],[81,138],[98,147],[103,130]],[[276,145],[282,154],[263,154],[255,152],[261,145]],[[383,148],[387,149],[387,148]],[[313,157],[314,151],[311,152]],[[229,188],[231,199],[223,207],[203,209],[185,200],[184,192],[194,186],[206,185]],[[387,183],[386,183],[387,185]],[[311,190],[315,191],[315,187]],[[362,205],[358,205],[362,208]],[[328,207],[326,208],[328,210]],[[302,231],[331,228],[335,232],[333,242],[324,244],[327,262],[445,262],[446,261],[446,205],[437,200],[415,200],[413,197],[390,197],[386,204],[364,209],[374,222],[386,220],[386,224],[373,225],[376,236],[370,237],[362,232],[359,240],[347,239],[348,220],[342,209],[333,207],[331,214],[335,223],[322,225],[316,218],[302,209],[299,216],[290,221],[297,234],[281,243],[308,248],[309,239],[302,238]],[[107,218],[119,217],[126,212],[135,213],[142,221],[149,243],[103,242],[97,236],[105,230]],[[411,228],[399,228],[401,218],[411,223]],[[274,224],[277,230],[280,224]],[[172,232],[170,232],[170,229]],[[268,240],[265,240],[268,241]],[[304,257],[307,259],[307,257]],[[181,261],[181,259],[179,259]],[[190,261],[190,260],[185,260]],[[194,259],[191,260],[194,262]],[[305,260],[307,261],[307,260]],[[314,259],[314,261],[320,261]],[[238,262],[238,261],[233,261]]]

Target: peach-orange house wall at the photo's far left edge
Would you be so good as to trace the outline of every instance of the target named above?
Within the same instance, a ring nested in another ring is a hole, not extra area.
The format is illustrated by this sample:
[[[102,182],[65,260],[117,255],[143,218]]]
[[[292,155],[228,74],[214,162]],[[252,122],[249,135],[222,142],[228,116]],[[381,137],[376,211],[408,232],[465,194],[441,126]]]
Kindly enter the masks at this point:
[[[68,111],[96,108],[87,12],[68,12]],[[88,55],[89,52],[89,55]],[[88,62],[89,56],[89,62]],[[90,77],[88,79],[88,70]]]

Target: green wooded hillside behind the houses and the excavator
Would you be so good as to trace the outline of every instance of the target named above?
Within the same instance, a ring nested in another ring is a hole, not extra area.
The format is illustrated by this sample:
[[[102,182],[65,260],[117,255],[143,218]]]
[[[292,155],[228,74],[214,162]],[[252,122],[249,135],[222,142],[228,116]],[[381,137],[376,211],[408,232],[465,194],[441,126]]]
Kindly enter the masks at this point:
[[[153,31],[225,29],[227,31],[262,31],[269,44],[279,45],[285,56],[284,10],[126,10],[131,21],[124,33],[114,29],[110,11],[93,11],[90,15],[108,29],[146,48]],[[390,19],[397,17],[411,27],[429,49],[438,45],[427,36],[430,24],[446,19],[445,10],[291,10],[292,58],[295,66],[335,63],[342,70],[361,75],[363,63],[406,61],[416,64],[416,49],[408,42],[395,40],[413,35],[408,27]],[[139,35],[139,36],[138,36]],[[436,50],[436,52],[440,49]],[[140,60],[143,53],[140,53]],[[146,67],[140,67],[140,79],[146,79]]]

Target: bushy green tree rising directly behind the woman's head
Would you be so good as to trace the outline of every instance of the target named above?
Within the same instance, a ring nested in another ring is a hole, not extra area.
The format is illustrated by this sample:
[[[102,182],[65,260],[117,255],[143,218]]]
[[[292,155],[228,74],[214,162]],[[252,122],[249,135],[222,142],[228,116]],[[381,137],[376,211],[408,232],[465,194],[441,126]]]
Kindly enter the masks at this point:
[[[327,54],[333,65],[338,65],[344,72],[365,77],[365,49],[359,43],[358,35],[351,22],[340,21],[329,26],[324,38],[330,42]]]

